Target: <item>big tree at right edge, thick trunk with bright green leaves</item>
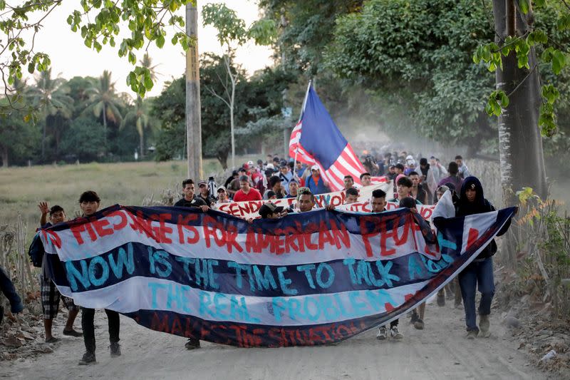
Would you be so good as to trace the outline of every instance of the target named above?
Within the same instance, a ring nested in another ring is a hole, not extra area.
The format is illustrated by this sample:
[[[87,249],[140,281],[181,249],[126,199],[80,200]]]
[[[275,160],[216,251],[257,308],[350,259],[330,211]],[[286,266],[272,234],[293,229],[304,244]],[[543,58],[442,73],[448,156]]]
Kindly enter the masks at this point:
[[[537,27],[530,0],[494,0],[494,42],[482,44],[473,56],[475,63],[484,62],[496,72],[497,88],[485,109],[499,117],[502,185],[509,202],[523,187],[547,195],[541,135],[551,137],[558,130],[555,107],[560,92],[557,83],[541,83],[541,73],[558,76],[568,63],[564,46],[569,43],[570,6],[563,3],[534,1],[544,14],[556,14],[550,25]],[[554,24],[557,33],[550,29]]]

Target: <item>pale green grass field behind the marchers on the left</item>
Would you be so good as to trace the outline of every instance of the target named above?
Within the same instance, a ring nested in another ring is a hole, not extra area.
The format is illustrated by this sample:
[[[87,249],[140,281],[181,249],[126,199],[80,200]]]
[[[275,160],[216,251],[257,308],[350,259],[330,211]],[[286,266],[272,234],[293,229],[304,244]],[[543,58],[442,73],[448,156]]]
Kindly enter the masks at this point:
[[[237,161],[241,162],[241,161]],[[204,175],[222,171],[217,160],[204,160]],[[165,163],[88,163],[0,169],[0,225],[21,215],[28,237],[39,223],[38,202],[61,205],[69,218],[78,215],[81,192],[95,190],[101,208],[120,203],[140,205],[145,197],[160,197],[166,189],[180,190],[187,176],[186,161]]]

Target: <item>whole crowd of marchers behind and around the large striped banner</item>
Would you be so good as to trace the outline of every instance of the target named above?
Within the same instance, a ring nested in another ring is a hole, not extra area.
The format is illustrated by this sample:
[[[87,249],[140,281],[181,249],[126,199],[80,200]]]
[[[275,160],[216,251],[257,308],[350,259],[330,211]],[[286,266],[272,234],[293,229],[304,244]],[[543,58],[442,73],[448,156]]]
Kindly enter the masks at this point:
[[[484,198],[484,192],[480,180],[473,177],[465,165],[462,157],[457,155],[455,160],[444,167],[440,160],[435,157],[419,158],[418,160],[406,152],[386,153],[381,160],[373,159],[371,155],[363,156],[363,166],[366,172],[361,173],[362,185],[370,185],[372,176],[385,175],[393,181],[394,196],[387,199],[386,192],[380,189],[373,190],[370,204],[371,212],[384,212],[388,201],[397,202],[400,207],[407,207],[417,216],[421,230],[427,242],[435,243],[436,239],[429,222],[423,220],[416,209],[417,205],[437,204],[445,192],[450,192],[455,206],[455,215],[472,215],[480,212],[494,210],[492,205]],[[344,178],[344,190],[346,203],[358,200],[358,189],[355,187],[352,176]],[[259,209],[262,218],[284,217],[292,212],[309,212],[316,209],[315,195],[330,192],[328,183],[321,177],[318,166],[306,167],[306,165],[292,160],[279,159],[268,155],[266,161],[257,160],[257,163],[249,161],[241,168],[234,170],[227,178],[224,185],[217,185],[213,178],[198,180],[197,191],[195,180],[182,181],[182,198],[175,203],[176,207],[197,207],[203,212],[210,208],[217,208],[227,202],[239,202],[245,200],[269,200]],[[284,208],[275,205],[270,200],[281,198],[295,198],[290,207]],[[83,216],[90,216],[97,212],[100,198],[96,192],[89,190],[79,197],[79,206]],[[49,227],[66,220],[66,213],[62,207],[54,205],[48,207],[47,202],[38,205],[41,210],[40,225]],[[328,205],[326,210],[333,210],[334,206]],[[438,220],[432,221],[437,227]],[[503,227],[499,235],[506,232],[509,225]],[[497,245],[491,244],[466,267],[457,277],[455,285],[448,285],[437,294],[437,305],[445,305],[445,292],[447,298],[455,298],[455,307],[465,308],[467,325],[467,338],[472,339],[481,334],[489,336],[489,314],[492,297],[494,295],[492,255],[497,251]],[[83,337],[86,352],[79,364],[95,363],[95,334],[94,315],[95,310],[81,307],[82,332],[73,328],[74,321],[80,308],[73,303],[73,299],[62,296],[53,280],[49,277],[46,264],[47,255],[43,256],[40,274],[41,305],[43,309],[43,321],[45,327],[46,342],[57,342],[53,336],[52,322],[58,314],[60,301],[68,309],[68,319],[63,334],[71,337]],[[0,268],[1,290],[11,302],[11,312],[17,313],[23,309],[21,299],[14,290],[6,272]],[[475,309],[476,289],[482,294],[478,314],[480,322],[477,325],[477,310]],[[4,314],[0,310],[1,315]],[[108,317],[108,330],[110,339],[111,356],[120,356],[119,332],[120,323],[117,312],[105,309]],[[420,305],[410,314],[410,322],[416,329],[424,329],[425,304]],[[389,326],[378,328],[377,338],[380,340],[403,339],[403,334],[398,330],[398,319],[390,322]],[[197,349],[200,346],[199,339],[191,338],[185,344],[187,349]]]

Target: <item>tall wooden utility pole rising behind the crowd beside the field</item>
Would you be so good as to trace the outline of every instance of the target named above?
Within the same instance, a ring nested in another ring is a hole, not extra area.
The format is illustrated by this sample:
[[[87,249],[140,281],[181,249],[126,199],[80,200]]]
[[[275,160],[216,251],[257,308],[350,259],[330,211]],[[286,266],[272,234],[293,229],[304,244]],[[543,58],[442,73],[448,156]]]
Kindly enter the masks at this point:
[[[192,37],[186,51],[186,140],[188,178],[202,179],[202,121],[200,115],[200,77],[198,60],[197,0],[186,4],[186,34]]]

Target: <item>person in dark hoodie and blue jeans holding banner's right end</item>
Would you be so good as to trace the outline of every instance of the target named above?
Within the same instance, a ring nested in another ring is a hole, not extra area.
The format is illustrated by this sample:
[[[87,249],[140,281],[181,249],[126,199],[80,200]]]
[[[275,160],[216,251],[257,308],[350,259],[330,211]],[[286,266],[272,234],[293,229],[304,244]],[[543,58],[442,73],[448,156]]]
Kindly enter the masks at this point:
[[[483,187],[475,177],[467,177],[461,187],[459,201],[455,206],[455,216],[481,214],[494,211],[494,207],[483,196]],[[511,222],[505,223],[497,236],[503,235],[509,229]],[[475,339],[479,332],[483,337],[489,337],[489,314],[494,295],[493,260],[497,252],[497,243],[491,240],[473,262],[458,276],[461,296],[465,305],[465,323],[467,324],[467,339]],[[481,293],[479,304],[479,327],[475,314],[476,289]]]

